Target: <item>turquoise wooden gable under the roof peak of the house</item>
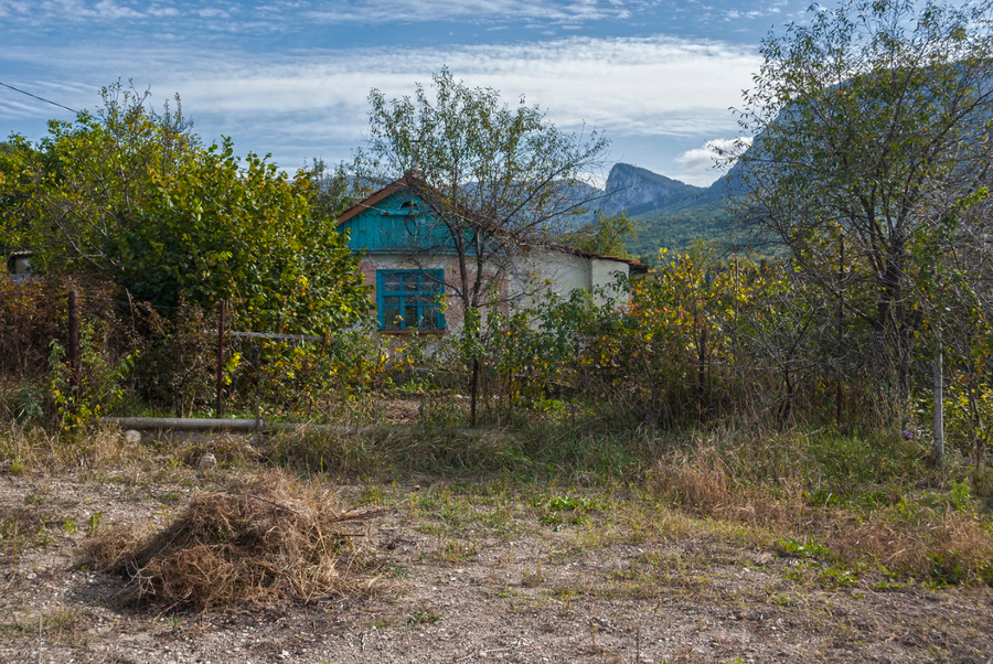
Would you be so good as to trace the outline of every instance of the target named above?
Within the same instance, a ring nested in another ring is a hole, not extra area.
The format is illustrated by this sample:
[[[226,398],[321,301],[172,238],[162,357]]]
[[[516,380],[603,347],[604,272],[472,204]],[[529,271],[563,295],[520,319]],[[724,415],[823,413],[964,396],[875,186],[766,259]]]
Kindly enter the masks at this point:
[[[409,190],[372,202],[339,226],[349,231],[349,248],[364,254],[404,254],[412,249],[451,254],[455,246],[444,224]]]

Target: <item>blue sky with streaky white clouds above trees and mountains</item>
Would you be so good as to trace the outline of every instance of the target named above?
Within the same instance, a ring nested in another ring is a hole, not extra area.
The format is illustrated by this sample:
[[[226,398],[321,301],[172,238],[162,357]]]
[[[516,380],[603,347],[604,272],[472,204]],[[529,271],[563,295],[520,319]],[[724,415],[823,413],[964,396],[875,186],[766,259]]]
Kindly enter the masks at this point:
[[[808,0],[0,0],[0,83],[94,110],[118,79],[173,95],[210,143],[296,171],[350,159],[370,89],[414,93],[448,67],[562,130],[610,140],[632,163],[690,184],[719,176],[708,146],[739,136],[770,30]],[[0,87],[0,138],[39,140],[65,108]],[[600,175],[605,175],[601,173]]]

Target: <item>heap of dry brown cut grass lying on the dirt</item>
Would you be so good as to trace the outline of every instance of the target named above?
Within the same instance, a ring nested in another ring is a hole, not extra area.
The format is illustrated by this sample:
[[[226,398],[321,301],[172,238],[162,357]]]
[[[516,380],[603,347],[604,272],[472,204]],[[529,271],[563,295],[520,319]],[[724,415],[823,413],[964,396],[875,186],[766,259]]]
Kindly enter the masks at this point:
[[[94,538],[90,564],[127,574],[124,599],[216,609],[356,590],[361,547],[341,532],[374,512],[348,512],[327,492],[278,471],[195,494],[168,528],[138,539],[118,529]]]

